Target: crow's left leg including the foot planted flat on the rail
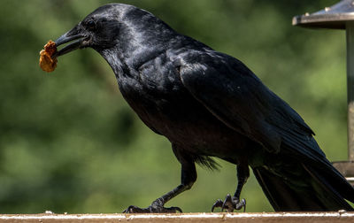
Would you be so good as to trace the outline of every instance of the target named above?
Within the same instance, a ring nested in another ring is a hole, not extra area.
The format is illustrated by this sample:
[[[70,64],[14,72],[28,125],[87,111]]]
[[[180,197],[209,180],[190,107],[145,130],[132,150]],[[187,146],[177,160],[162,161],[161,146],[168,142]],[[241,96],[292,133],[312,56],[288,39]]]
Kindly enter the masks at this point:
[[[180,158],[179,158],[180,160]],[[181,162],[181,160],[180,160]],[[129,206],[124,213],[160,213],[160,212],[181,212],[179,207],[164,207],[165,203],[171,200],[174,196],[178,196],[183,191],[188,190],[192,187],[193,183],[196,181],[196,165],[194,162],[187,162],[182,160],[181,162],[181,184],[176,188],[173,188],[170,192],[159,197],[150,204],[147,208],[139,208],[134,205]]]

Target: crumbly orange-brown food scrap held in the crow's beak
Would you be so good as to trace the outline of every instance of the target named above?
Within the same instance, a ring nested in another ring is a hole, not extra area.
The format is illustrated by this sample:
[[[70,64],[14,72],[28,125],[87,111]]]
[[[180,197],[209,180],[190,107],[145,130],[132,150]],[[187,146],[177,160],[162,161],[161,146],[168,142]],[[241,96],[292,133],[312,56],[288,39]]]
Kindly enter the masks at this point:
[[[44,45],[44,50],[41,50],[39,58],[39,65],[45,72],[52,72],[57,67],[57,58],[52,58],[53,54],[57,52],[57,46],[55,42],[51,40]]]

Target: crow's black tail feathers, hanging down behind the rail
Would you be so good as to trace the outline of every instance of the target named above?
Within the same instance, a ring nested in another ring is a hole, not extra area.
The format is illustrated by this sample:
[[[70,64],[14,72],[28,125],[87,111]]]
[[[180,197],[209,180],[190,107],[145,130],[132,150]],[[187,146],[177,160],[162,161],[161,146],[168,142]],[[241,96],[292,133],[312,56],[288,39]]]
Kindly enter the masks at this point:
[[[345,199],[353,201],[354,189],[342,175],[329,174],[304,164],[295,168],[307,178],[291,179],[296,176],[277,174],[266,167],[253,168],[275,211],[353,211]]]

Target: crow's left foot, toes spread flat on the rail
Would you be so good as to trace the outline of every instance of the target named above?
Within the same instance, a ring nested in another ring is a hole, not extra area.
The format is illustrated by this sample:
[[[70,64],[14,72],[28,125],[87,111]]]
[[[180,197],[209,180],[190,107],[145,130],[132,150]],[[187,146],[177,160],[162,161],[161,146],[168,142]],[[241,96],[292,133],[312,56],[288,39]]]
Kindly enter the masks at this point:
[[[164,207],[164,203],[157,199],[147,208],[130,205],[123,213],[176,213],[177,211],[182,212],[179,207]]]

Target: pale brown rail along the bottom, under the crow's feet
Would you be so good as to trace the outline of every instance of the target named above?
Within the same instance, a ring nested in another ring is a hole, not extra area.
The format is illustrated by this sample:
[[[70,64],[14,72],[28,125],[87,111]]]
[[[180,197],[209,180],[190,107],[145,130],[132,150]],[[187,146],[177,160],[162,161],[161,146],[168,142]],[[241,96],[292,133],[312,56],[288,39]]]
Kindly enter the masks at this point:
[[[3,214],[0,222],[237,222],[237,223],[336,223],[354,222],[354,212],[275,212],[275,213],[177,213],[177,214]]]

